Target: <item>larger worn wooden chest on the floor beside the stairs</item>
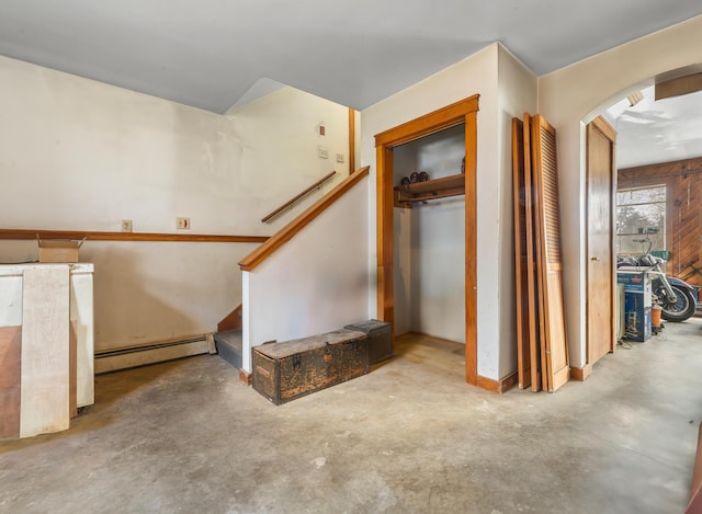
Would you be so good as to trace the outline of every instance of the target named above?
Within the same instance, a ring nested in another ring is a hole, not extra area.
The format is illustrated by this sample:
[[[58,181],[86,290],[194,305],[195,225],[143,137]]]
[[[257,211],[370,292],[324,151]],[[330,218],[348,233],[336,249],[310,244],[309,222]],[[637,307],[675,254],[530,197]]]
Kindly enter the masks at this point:
[[[369,373],[367,335],[337,330],[252,352],[253,389],[276,406]]]

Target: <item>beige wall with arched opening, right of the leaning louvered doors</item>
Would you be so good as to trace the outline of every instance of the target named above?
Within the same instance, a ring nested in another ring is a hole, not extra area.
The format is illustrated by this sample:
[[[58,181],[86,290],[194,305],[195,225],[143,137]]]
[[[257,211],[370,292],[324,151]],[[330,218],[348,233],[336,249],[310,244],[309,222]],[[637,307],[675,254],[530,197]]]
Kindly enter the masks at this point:
[[[558,133],[568,343],[586,364],[585,123],[657,75],[702,62],[702,16],[539,78],[539,111]]]

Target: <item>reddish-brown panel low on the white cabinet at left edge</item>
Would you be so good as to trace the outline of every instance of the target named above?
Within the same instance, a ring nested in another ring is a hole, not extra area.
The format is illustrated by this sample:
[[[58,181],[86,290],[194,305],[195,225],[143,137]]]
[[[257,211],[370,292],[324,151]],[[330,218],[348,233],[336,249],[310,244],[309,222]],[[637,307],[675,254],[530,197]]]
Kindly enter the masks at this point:
[[[22,327],[0,327],[0,437],[20,435]]]

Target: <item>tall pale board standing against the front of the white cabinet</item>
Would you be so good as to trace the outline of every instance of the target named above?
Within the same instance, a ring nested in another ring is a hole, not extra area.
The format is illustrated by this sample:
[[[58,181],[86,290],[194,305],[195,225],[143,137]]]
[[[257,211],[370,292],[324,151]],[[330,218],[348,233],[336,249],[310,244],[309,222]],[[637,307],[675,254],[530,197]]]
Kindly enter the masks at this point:
[[[24,271],[20,437],[69,427],[69,266]]]

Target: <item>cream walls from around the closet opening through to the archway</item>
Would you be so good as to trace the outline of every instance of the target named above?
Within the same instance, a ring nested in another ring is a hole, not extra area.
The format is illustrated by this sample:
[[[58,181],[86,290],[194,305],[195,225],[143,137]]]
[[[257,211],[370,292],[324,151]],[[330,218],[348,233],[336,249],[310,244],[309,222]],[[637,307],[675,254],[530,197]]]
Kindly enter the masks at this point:
[[[536,79],[498,44],[362,113],[362,159],[374,171],[373,136],[469,94],[478,113],[478,374],[502,378],[516,368],[512,116],[543,114],[558,132],[566,315],[571,365],[586,364],[585,123],[657,75],[702,64],[702,16]],[[497,68],[496,68],[497,66]],[[372,191],[371,209],[375,207]],[[374,212],[374,210],[373,210]],[[371,227],[375,230],[375,226]],[[373,233],[373,241],[375,240]],[[370,266],[375,266],[374,248]],[[375,304],[374,277],[370,305]]]

